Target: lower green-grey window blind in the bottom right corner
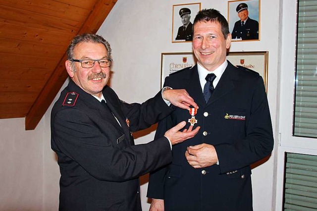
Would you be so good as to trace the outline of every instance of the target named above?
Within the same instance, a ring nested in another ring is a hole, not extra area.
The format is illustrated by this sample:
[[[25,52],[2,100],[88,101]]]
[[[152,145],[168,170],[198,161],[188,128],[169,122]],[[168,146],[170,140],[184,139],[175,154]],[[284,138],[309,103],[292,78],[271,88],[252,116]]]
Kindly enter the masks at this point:
[[[284,211],[317,210],[317,156],[286,153]]]

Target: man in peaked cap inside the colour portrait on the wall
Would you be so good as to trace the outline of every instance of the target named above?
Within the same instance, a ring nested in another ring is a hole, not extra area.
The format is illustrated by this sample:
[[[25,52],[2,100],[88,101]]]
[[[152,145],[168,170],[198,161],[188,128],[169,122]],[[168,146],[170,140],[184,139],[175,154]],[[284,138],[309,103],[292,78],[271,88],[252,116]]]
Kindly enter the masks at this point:
[[[240,3],[236,11],[240,20],[234,24],[232,39],[259,40],[259,22],[249,17],[248,5]]]

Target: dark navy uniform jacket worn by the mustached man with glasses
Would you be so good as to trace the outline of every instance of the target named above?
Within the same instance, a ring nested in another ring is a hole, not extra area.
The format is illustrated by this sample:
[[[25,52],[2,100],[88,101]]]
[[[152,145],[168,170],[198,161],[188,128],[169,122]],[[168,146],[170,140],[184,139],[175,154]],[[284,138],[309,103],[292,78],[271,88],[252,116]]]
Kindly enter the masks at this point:
[[[134,145],[131,133],[173,110],[160,92],[141,105],[121,102],[107,86],[103,95],[109,108],[70,80],[53,106],[61,211],[141,211],[138,177],[171,162],[165,137]]]

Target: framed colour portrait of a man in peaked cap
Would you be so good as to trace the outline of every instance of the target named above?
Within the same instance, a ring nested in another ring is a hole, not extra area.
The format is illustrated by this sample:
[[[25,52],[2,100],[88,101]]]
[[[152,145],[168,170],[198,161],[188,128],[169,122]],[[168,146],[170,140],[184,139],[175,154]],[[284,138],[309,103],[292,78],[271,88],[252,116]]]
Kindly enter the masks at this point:
[[[232,42],[260,41],[260,0],[228,1],[228,23]]]

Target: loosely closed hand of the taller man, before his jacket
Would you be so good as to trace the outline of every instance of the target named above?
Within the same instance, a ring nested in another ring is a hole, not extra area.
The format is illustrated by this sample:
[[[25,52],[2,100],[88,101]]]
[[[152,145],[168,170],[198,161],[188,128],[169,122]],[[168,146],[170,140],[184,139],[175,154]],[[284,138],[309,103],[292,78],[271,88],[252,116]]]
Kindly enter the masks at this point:
[[[214,165],[218,161],[216,150],[212,145],[200,144],[187,147],[185,157],[194,168],[204,168]]]

